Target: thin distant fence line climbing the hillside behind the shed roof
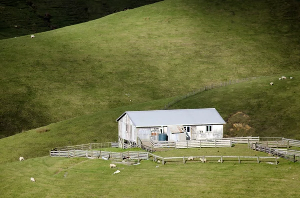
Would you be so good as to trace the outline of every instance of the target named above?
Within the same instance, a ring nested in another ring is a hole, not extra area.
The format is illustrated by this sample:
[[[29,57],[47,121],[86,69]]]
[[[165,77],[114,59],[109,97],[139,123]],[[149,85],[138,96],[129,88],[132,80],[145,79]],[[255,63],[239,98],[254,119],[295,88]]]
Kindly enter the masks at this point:
[[[205,86],[201,87],[200,89],[198,89],[196,91],[191,91],[191,92],[189,92],[189,93],[187,93],[183,96],[176,97],[171,102],[166,103],[162,109],[167,109],[170,106],[172,106],[173,104],[175,104],[175,103],[177,103],[177,102],[179,102],[179,101],[181,101],[185,98],[194,96],[197,93],[200,93],[200,92],[203,92],[203,91],[206,91],[206,90],[211,90],[211,89],[214,89],[214,88],[224,87],[224,86],[228,86],[228,85],[231,85],[231,84],[236,84],[236,83],[245,82],[245,81],[249,81],[249,80],[255,80],[255,79],[258,79],[258,78],[262,78],[262,77],[265,77],[265,76],[240,78],[240,79],[228,80],[228,81],[224,81],[224,82],[205,85]]]

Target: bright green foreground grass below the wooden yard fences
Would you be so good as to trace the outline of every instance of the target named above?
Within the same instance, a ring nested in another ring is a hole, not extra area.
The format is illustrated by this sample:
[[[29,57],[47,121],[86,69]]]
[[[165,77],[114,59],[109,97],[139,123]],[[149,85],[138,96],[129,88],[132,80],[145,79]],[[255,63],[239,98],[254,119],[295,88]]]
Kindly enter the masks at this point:
[[[189,149],[183,150],[185,156],[190,155]],[[202,148],[198,154],[210,150]],[[259,154],[246,148],[230,150],[241,154],[251,152],[252,156]],[[277,166],[263,162],[202,164],[198,161],[159,165],[159,168],[149,160],[137,166],[117,164],[120,173],[115,175],[110,163],[100,159],[41,157],[3,164],[0,165],[1,196],[273,198],[297,197],[300,193],[296,188],[300,181],[299,164],[283,159]],[[31,183],[30,177],[36,182]]]

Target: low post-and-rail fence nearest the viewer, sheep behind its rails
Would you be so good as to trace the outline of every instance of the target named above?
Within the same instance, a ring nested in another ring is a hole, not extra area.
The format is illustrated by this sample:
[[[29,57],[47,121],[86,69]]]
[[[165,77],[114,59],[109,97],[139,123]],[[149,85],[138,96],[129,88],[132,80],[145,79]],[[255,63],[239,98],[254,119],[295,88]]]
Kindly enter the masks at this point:
[[[178,161],[182,161],[183,164],[185,164],[187,161],[200,161],[201,163],[204,163],[204,160],[200,160],[200,159],[205,159],[206,162],[219,162],[219,163],[223,163],[224,160],[226,159],[226,161],[237,161],[238,164],[241,163],[241,161],[253,161],[250,159],[254,159],[255,162],[257,162],[257,164],[259,164],[259,162],[261,162],[262,160],[264,162],[274,162],[275,165],[277,165],[277,159],[279,159],[279,157],[259,157],[259,156],[182,156],[182,157],[160,157],[154,154],[149,154],[149,157],[152,157],[154,162],[158,162],[158,160],[161,161],[161,164],[164,165],[166,162],[178,162]],[[193,158],[193,160],[188,160],[188,158]]]

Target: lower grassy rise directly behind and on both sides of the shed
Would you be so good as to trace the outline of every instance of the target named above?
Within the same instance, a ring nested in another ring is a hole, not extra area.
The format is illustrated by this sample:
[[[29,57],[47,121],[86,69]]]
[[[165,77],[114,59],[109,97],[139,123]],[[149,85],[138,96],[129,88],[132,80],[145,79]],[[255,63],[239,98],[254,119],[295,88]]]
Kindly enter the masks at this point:
[[[300,118],[297,116],[300,109],[300,71],[284,75],[293,76],[294,79],[279,81],[278,75],[275,75],[229,85],[200,92],[171,108],[214,107],[227,123],[224,126],[225,135],[283,136],[300,140]],[[274,82],[273,86],[269,85],[271,81]],[[0,164],[15,161],[19,156],[26,159],[45,156],[50,149],[58,146],[117,141],[115,119],[123,112],[161,109],[171,100],[168,98],[102,110],[48,125],[45,129],[49,131],[46,132],[37,129],[0,139]],[[230,131],[230,128],[233,130]]]

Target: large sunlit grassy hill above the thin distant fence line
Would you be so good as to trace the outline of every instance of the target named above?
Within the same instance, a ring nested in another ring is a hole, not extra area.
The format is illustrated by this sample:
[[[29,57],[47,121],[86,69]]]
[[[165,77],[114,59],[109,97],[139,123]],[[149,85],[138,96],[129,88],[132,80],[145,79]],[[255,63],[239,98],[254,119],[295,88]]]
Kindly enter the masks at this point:
[[[298,70],[298,9],[294,0],[165,0],[0,40],[0,134]]]

